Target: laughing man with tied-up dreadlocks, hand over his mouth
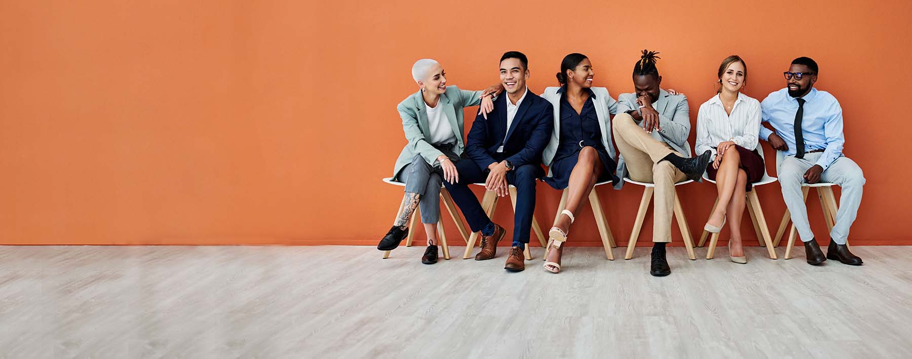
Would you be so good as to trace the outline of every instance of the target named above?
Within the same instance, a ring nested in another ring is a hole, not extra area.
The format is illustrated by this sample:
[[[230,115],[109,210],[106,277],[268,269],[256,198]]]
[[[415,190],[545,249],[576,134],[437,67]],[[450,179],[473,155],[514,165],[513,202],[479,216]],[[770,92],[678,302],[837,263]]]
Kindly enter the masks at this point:
[[[620,156],[617,177],[655,183],[652,231],[652,264],[649,274],[671,273],[665,259],[665,244],[671,241],[671,216],[675,183],[700,180],[710,163],[710,151],[690,157],[690,116],[687,97],[671,95],[659,87],[658,52],[643,50],[633,68],[636,92],[617,97],[617,116],[612,121]],[[629,173],[627,173],[629,171]],[[616,189],[624,185],[620,181]]]

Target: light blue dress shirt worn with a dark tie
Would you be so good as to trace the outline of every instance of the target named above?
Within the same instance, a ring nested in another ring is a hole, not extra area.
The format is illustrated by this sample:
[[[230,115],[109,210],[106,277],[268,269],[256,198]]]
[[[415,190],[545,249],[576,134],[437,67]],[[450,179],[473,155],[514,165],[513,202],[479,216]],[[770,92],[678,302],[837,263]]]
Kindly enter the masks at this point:
[[[829,92],[818,91],[813,87],[803,98],[806,101],[801,121],[804,153],[824,149],[824,155],[814,164],[827,169],[836,159],[843,156],[843,108]],[[794,156],[794,123],[798,101],[795,97],[789,96],[786,87],[764,98],[761,108],[763,122],[769,122],[772,128],[775,128],[776,134],[788,145],[789,149],[785,151],[785,155]],[[772,131],[769,128],[760,127],[760,138],[769,140],[770,135]]]

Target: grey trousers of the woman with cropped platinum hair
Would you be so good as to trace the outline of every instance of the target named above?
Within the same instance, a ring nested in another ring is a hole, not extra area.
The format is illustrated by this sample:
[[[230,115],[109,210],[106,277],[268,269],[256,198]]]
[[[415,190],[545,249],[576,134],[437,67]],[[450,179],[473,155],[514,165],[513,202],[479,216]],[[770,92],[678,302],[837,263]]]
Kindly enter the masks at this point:
[[[405,191],[421,196],[421,223],[440,221],[440,185],[443,184],[443,169],[431,166],[421,155],[415,155],[411,163],[399,172],[399,180],[405,182]]]

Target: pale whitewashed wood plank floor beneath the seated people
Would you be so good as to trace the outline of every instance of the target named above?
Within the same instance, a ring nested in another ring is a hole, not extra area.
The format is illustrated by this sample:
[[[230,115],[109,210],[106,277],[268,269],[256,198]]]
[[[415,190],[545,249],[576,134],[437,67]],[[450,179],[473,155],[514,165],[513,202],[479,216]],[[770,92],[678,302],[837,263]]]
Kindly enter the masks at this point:
[[[648,248],[571,247],[556,275],[533,250],[510,273],[506,248],[0,247],[0,358],[912,357],[912,247],[854,247],[862,267],[676,247],[664,278]]]

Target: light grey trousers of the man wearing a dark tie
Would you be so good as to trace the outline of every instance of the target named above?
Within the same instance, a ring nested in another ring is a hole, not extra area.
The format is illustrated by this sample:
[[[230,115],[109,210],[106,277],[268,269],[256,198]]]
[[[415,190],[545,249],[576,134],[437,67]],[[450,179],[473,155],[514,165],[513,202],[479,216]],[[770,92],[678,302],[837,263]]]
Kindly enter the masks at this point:
[[[792,223],[798,230],[802,241],[813,240],[814,232],[811,231],[811,225],[807,221],[807,206],[804,205],[801,184],[804,183],[804,172],[813,167],[817,159],[823,155],[823,152],[807,153],[804,155],[804,159],[785,156],[778,164],[782,200],[785,200],[785,205],[792,212]],[[849,237],[849,228],[852,227],[852,222],[855,221],[855,216],[858,214],[858,206],[861,205],[865,174],[854,160],[840,157],[824,170],[824,173],[820,175],[820,181],[835,183],[843,189],[843,195],[839,199],[839,210],[836,211],[836,223],[833,231],[830,232],[830,238],[836,244],[845,244]]]

